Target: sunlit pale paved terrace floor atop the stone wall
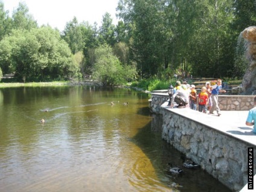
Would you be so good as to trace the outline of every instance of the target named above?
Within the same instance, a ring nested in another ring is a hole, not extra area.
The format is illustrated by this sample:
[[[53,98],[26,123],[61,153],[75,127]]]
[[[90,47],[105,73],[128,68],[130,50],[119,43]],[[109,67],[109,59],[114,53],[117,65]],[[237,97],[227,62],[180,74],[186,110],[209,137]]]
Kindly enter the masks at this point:
[[[171,110],[176,114],[187,117],[191,120],[210,126],[211,128],[223,132],[227,135],[231,135],[234,138],[248,142],[249,144],[252,144],[256,149],[256,134],[252,132],[252,126],[246,126],[245,124],[248,115],[248,110],[222,110],[222,115],[218,116],[216,111],[215,115],[203,114],[200,113],[198,110],[191,110],[189,108],[171,109],[169,106],[167,106],[167,104],[168,102],[165,102],[164,104],[162,104],[162,107],[167,110]],[[254,151],[254,153],[256,152]],[[256,177],[254,176],[254,189],[256,189],[255,180]],[[247,185],[245,185],[245,187],[241,191],[254,191],[247,190],[247,188]]]

